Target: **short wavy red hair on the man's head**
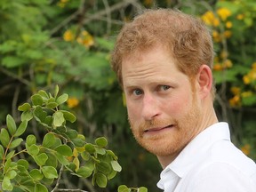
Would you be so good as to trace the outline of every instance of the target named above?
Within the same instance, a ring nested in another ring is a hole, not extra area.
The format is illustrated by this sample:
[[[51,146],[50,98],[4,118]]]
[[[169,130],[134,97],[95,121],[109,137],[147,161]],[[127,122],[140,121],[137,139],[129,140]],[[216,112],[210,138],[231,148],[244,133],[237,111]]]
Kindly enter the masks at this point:
[[[184,74],[193,77],[201,65],[212,68],[212,36],[202,20],[171,9],[146,10],[126,23],[116,39],[112,68],[122,85],[122,60],[163,45]]]

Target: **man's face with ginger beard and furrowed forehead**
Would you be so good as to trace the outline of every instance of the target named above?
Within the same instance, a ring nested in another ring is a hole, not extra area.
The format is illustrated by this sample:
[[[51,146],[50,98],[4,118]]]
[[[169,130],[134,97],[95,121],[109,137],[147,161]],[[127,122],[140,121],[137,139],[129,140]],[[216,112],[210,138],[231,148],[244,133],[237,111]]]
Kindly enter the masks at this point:
[[[177,156],[198,130],[201,107],[188,76],[162,47],[124,58],[122,75],[135,139],[156,156]]]

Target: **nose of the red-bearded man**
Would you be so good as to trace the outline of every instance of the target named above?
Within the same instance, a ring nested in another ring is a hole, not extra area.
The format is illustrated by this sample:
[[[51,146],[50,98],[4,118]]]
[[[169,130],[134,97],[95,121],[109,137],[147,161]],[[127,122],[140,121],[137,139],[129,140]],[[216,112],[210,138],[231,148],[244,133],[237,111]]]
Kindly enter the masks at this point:
[[[145,120],[152,120],[160,114],[158,100],[154,95],[144,94],[141,112]]]

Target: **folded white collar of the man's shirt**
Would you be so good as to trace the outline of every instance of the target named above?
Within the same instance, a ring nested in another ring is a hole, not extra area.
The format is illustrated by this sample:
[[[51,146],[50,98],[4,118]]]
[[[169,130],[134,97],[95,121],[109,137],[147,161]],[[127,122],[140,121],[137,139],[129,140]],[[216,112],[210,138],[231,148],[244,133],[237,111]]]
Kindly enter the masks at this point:
[[[203,132],[200,132],[194,140],[191,140],[186,148],[184,148],[179,156],[177,156],[171,164],[169,164],[160,174],[161,180],[157,183],[158,188],[165,188],[164,184],[168,180],[182,178],[196,164],[198,159],[205,156],[205,151],[211,148],[212,144],[217,140],[230,140],[228,124],[220,122],[212,124]]]

